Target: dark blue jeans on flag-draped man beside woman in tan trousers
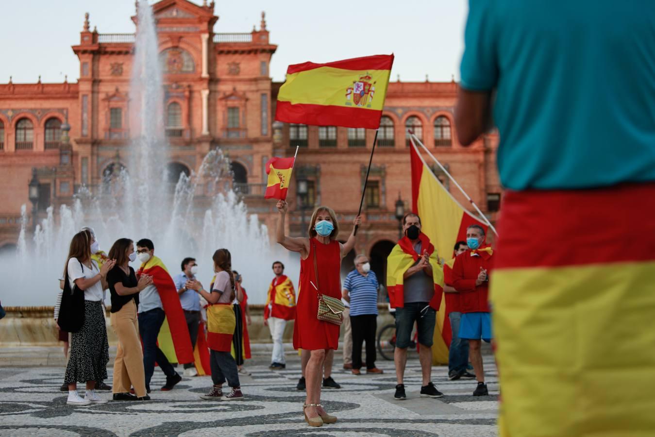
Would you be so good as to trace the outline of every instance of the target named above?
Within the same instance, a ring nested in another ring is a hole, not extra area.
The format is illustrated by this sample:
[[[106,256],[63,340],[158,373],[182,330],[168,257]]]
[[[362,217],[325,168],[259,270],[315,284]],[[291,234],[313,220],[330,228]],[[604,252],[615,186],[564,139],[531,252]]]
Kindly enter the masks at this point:
[[[166,377],[174,376],[176,373],[164,352],[157,347],[157,335],[159,335],[159,330],[164,324],[164,318],[166,318],[166,313],[160,308],[139,313],[139,334],[141,335],[141,341],[143,341],[145,387],[150,387],[150,379],[155,373],[155,361],[164,371]]]

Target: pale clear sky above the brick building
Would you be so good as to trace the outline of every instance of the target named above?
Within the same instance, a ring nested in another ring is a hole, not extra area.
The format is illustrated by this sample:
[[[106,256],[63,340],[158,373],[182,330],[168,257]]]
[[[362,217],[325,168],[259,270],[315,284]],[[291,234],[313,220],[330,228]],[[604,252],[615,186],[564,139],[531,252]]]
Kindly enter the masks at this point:
[[[0,83],[69,82],[79,78],[71,45],[79,43],[84,12],[100,33],[132,33],[134,0],[0,0]],[[150,3],[156,3],[151,1]],[[196,0],[202,4],[202,0]],[[465,0],[240,0],[215,2],[216,33],[259,29],[266,11],[271,76],[284,81],[289,64],[329,62],[388,54],[396,59],[392,81],[459,79]]]

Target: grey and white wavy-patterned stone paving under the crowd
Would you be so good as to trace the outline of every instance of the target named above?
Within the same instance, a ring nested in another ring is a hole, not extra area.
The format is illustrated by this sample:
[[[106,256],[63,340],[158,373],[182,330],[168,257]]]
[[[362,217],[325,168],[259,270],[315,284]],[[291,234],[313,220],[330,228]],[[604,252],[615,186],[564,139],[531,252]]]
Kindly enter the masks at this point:
[[[473,381],[447,381],[447,369],[435,367],[432,381],[445,396],[419,397],[421,369],[407,363],[407,400],[393,399],[392,362],[377,364],[383,375],[355,376],[335,363],[340,390],[324,390],[322,403],[339,421],[310,428],[303,421],[304,392],[295,389],[300,363],[292,357],[286,370],[271,371],[261,359],[242,377],[245,400],[215,402],[198,396],[209,377],[184,377],[170,392],[153,390],[149,402],[109,402],[88,407],[66,405],[59,391],[61,368],[0,368],[0,436],[496,436],[498,385],[493,360],[485,359],[490,396],[471,396]],[[111,371],[109,368],[111,383]],[[151,387],[164,375],[155,370]],[[82,386],[82,385],[81,385]],[[80,390],[83,395],[84,390]],[[109,399],[109,392],[100,392]]]

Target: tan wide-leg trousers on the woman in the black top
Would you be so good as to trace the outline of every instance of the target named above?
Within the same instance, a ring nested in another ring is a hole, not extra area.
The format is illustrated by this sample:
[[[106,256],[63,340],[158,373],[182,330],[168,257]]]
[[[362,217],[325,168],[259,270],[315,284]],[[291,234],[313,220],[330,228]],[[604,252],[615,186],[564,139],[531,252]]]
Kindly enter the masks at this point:
[[[114,361],[114,393],[130,392],[134,387],[136,396],[145,396],[145,371],[143,370],[143,349],[139,337],[139,321],[134,299],[111,313],[111,327],[119,339]]]

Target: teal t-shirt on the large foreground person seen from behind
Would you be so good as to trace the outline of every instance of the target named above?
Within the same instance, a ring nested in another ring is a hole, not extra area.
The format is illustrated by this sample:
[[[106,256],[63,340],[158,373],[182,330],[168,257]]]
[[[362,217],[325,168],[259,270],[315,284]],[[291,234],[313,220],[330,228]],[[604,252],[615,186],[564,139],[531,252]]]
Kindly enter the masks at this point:
[[[461,86],[493,90],[505,187],[655,181],[655,3],[470,0]]]

